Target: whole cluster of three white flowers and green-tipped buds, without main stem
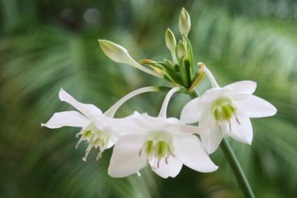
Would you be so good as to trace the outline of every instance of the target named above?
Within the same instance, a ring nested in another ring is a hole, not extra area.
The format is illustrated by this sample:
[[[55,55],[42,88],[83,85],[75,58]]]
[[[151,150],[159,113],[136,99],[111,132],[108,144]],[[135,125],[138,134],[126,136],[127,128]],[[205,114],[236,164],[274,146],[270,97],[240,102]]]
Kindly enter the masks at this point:
[[[188,39],[191,28],[190,16],[183,8],[179,17],[181,41],[177,43],[170,29],[165,33],[165,43],[172,55],[172,62],[164,59],[155,62],[143,59],[134,61],[127,50],[111,41],[99,40],[104,53],[113,61],[130,64],[141,71],[163,78],[173,87],[143,87],[135,90],[102,113],[92,104],[82,104],[64,90],[60,100],[78,111],[55,113],[46,124],[48,128],[81,127],[76,148],[82,141],[88,142],[85,157],[92,148],[99,150],[97,160],[104,150],[113,147],[109,175],[125,177],[151,166],[152,171],[163,178],[175,177],[182,165],[195,171],[211,172],[218,167],[209,154],[218,148],[224,136],[243,143],[251,143],[252,127],[249,118],[274,115],[276,108],[256,97],[256,83],[241,81],[219,87],[205,64],[198,63],[193,72],[193,51]],[[212,83],[212,89],[200,97],[195,86],[204,75]],[[118,108],[128,99],[143,92],[167,92],[158,117],[134,112],[125,118],[113,118]],[[193,99],[185,104],[180,119],[167,118],[167,106],[176,92],[190,95]],[[198,125],[192,125],[198,123]],[[191,125],[190,125],[191,124]]]

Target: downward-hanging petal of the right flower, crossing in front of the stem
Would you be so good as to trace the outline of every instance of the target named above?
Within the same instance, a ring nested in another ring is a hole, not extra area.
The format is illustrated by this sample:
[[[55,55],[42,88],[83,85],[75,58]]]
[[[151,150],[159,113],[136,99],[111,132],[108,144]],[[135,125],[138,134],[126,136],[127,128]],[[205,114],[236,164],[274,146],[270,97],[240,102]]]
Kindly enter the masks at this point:
[[[208,135],[200,135],[201,141],[207,153],[211,154],[219,147],[223,136],[225,135],[225,128],[216,124],[216,120],[213,118],[209,110],[206,110],[201,115],[201,120],[199,122],[201,127],[211,127]]]

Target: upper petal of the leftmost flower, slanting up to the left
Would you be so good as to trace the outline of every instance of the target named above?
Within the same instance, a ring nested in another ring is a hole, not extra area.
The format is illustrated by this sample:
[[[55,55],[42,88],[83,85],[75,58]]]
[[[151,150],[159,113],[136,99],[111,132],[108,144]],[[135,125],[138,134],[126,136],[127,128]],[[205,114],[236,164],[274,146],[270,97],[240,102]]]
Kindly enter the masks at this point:
[[[74,99],[74,97],[71,97],[70,94],[62,89],[59,92],[59,97],[61,101],[66,101],[68,104],[71,104],[72,106],[74,106],[74,108],[76,108],[78,111],[81,111],[81,113],[83,113],[88,118],[92,117],[90,115],[90,111],[92,111],[92,114],[102,114],[102,111],[100,111],[99,108],[97,108],[96,106],[92,104],[83,104]]]

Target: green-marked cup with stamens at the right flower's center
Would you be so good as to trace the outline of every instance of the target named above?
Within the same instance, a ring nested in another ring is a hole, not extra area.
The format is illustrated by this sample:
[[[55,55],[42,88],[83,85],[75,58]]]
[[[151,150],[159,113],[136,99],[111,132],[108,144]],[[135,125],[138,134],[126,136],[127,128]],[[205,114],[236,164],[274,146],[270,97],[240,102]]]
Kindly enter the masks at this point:
[[[219,99],[216,99],[211,106],[212,114],[214,115],[214,118],[216,119],[216,122],[219,125],[219,129],[221,131],[221,125],[223,125],[224,122],[228,122],[229,129],[231,131],[231,118],[233,116],[235,117],[238,124],[240,124],[239,120],[237,119],[236,115],[236,108],[232,104],[232,101],[228,97],[221,97]]]

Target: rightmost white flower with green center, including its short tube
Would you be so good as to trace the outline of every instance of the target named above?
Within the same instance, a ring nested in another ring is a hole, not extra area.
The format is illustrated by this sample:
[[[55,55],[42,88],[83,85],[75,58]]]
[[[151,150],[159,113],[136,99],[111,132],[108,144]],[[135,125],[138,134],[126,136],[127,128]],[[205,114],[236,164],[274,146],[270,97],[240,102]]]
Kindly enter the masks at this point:
[[[219,147],[223,136],[251,144],[253,129],[249,118],[275,115],[277,109],[268,101],[252,95],[256,90],[255,82],[246,80],[219,87],[206,66],[199,65],[213,88],[184,106],[181,121],[188,124],[199,122],[200,127],[212,128],[209,134],[200,135],[209,154]]]

